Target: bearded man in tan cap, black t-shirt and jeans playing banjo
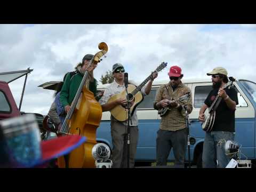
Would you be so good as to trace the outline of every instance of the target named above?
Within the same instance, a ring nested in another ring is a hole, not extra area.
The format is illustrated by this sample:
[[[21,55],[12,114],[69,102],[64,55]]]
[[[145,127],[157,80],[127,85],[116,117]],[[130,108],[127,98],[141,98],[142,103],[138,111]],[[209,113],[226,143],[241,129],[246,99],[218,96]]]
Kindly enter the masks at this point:
[[[216,67],[208,76],[212,76],[213,90],[204,101],[199,111],[199,121],[205,121],[205,110],[212,106],[215,98],[220,97],[220,103],[215,110],[215,119],[210,132],[205,133],[203,146],[203,167],[225,168],[230,159],[225,154],[225,143],[235,138],[235,110],[238,104],[237,92],[233,87],[226,87],[228,73],[225,68]],[[222,87],[226,87],[222,89]],[[219,96],[218,96],[219,95]]]

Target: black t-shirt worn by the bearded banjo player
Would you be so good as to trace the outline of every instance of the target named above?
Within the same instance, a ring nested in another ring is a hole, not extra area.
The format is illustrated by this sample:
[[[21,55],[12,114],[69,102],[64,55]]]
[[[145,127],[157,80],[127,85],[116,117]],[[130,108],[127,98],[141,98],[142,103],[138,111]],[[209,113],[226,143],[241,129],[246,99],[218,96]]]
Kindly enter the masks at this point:
[[[230,89],[224,89],[229,96],[230,99],[238,104],[237,92],[233,87]],[[204,103],[208,107],[210,107],[218,95],[219,89],[213,89],[207,98],[205,99]],[[212,127],[212,131],[227,131],[227,132],[235,132],[235,110],[231,110],[228,108],[226,101],[223,99],[221,100],[218,108],[215,112],[215,121]]]

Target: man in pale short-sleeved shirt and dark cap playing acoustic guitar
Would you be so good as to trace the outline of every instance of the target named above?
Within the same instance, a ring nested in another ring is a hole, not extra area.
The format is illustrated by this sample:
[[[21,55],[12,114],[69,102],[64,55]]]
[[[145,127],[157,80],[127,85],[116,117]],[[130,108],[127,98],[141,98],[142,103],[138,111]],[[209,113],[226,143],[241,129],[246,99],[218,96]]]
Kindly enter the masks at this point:
[[[111,83],[105,90],[102,98],[99,100],[102,111],[109,111],[115,108],[118,105],[125,106],[127,104],[126,99],[118,98],[112,102],[108,102],[109,98],[112,95],[120,93],[125,90],[124,85],[124,67],[121,63],[116,63],[112,68],[113,76],[115,77],[114,82]],[[151,75],[151,79],[147,85],[142,87],[141,93],[147,95],[150,93],[152,83],[157,77],[157,73]],[[134,111],[130,123],[130,134],[131,134],[131,143],[130,143],[130,158],[129,158],[129,167],[134,167],[134,158],[137,150],[138,142],[138,118],[136,110]],[[127,154],[124,153],[124,136],[127,130],[127,121],[119,122],[117,119],[111,115],[111,137],[113,141],[113,153],[111,159],[113,161],[112,167],[127,167]]]

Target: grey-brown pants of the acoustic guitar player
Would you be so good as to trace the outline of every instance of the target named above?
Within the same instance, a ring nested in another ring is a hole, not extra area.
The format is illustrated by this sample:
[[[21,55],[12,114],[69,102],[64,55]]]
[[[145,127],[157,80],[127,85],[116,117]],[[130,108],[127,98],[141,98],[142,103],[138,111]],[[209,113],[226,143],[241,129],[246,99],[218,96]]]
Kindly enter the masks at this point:
[[[111,119],[111,137],[113,143],[113,150],[110,159],[113,161],[112,167],[114,168],[127,167],[126,132],[127,126],[125,126],[123,123],[116,121],[115,119]],[[130,126],[130,168],[134,167],[138,134],[138,126]]]

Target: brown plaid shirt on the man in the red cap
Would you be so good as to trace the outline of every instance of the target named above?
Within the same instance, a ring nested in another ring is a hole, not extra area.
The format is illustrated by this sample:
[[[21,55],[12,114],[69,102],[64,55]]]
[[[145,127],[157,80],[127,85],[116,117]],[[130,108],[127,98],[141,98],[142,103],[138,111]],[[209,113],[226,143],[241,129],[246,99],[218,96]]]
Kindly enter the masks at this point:
[[[190,92],[192,95],[191,90],[188,86],[183,85],[182,82],[178,85],[178,87],[173,91],[171,83],[161,85],[159,90],[157,91],[156,98],[154,101],[154,108],[158,110],[156,107],[156,103],[163,99],[170,99],[174,98],[177,99],[182,95]],[[190,114],[193,106],[192,106],[192,96],[187,101],[178,101],[181,106],[187,105],[188,113]],[[160,109],[160,108],[159,108]],[[161,130],[166,131],[178,131],[186,128],[186,114],[185,109],[182,107],[181,110],[178,108],[172,108],[171,110],[167,111],[167,115],[163,116],[161,119]]]

